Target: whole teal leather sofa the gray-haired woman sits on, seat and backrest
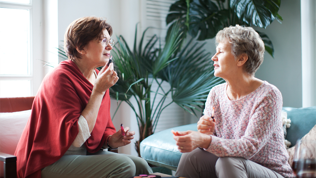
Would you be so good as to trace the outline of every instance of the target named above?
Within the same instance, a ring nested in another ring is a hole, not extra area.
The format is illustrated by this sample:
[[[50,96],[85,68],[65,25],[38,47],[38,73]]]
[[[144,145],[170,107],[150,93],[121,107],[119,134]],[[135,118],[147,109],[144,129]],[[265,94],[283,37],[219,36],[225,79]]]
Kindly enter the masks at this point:
[[[287,112],[288,119],[291,119],[291,126],[287,129],[286,139],[294,146],[298,138],[302,138],[316,125],[316,106],[306,108],[283,107],[283,111]],[[140,153],[141,157],[148,163],[175,171],[182,153],[179,152],[175,144],[171,130],[197,131],[197,124],[170,128],[147,137],[140,144]]]

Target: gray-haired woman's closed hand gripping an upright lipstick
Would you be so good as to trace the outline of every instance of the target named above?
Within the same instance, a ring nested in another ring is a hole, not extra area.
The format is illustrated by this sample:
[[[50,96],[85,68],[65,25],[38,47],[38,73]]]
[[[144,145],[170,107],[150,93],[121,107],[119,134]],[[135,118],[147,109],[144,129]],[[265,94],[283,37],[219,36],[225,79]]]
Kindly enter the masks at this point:
[[[197,122],[197,131],[207,135],[213,135],[215,130],[216,119],[203,115]]]

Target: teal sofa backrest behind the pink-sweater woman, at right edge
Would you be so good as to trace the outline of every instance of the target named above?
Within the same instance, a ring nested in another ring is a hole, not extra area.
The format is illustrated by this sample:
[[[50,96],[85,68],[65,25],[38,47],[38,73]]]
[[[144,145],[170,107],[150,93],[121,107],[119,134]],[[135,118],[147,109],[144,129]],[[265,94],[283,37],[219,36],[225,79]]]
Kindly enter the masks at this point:
[[[302,138],[316,124],[316,106],[313,107],[283,107],[291,119],[291,126],[287,129],[286,139],[295,145],[297,139]]]

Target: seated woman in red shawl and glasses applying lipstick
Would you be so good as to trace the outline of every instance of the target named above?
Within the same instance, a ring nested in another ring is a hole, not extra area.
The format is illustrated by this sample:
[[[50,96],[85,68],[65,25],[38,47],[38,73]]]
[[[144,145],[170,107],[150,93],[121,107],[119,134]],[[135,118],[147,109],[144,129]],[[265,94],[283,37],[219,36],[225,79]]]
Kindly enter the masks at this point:
[[[66,30],[70,60],[46,75],[15,155],[18,177],[131,177],[152,173],[140,157],[103,151],[131,143],[129,127],[116,132],[109,88],[119,77],[109,61],[114,45],[106,20],[84,17]],[[96,68],[104,66],[100,71]]]

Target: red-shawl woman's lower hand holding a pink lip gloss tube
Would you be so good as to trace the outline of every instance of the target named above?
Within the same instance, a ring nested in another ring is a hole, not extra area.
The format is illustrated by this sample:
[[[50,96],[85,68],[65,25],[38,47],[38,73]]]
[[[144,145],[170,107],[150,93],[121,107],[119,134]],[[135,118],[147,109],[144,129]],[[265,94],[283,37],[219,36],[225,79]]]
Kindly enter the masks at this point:
[[[118,132],[114,133],[108,140],[109,146],[112,148],[117,148],[120,146],[125,146],[131,143],[131,139],[134,138],[135,131],[128,132],[129,127],[124,128],[125,136],[122,135],[122,130],[119,129]]]

